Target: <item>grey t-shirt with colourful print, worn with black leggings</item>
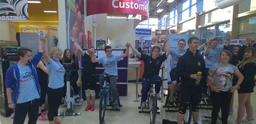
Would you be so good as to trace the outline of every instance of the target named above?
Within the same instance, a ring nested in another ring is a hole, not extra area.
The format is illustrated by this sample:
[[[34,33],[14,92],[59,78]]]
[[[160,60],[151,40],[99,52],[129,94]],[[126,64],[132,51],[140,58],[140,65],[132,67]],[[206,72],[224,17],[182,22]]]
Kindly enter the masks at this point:
[[[209,68],[209,71],[214,73],[213,86],[219,87],[221,91],[229,91],[229,89],[232,87],[233,74],[237,70],[237,67],[231,64],[213,65]]]

